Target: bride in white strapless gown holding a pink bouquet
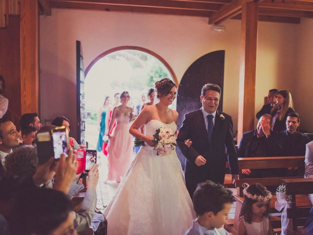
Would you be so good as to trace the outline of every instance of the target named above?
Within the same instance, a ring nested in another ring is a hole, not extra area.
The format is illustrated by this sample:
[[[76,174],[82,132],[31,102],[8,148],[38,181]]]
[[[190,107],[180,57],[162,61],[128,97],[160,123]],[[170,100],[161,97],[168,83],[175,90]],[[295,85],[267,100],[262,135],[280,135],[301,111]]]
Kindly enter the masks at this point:
[[[145,146],[140,148],[104,211],[108,234],[183,235],[195,217],[175,149],[171,145],[159,148],[160,142],[156,144],[153,137],[157,130],[159,135],[166,130],[164,139],[169,133],[176,139],[178,113],[169,105],[176,98],[177,88],[164,78],[156,82],[156,92],[159,102],[145,107],[129,129]],[[139,131],[142,126],[145,134]]]

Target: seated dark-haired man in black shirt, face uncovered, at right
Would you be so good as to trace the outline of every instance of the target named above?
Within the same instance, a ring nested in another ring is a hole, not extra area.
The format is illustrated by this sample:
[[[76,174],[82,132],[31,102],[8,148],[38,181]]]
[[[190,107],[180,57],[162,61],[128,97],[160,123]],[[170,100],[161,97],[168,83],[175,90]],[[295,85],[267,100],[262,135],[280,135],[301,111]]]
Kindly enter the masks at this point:
[[[287,114],[287,129],[283,132],[286,135],[285,152],[287,156],[304,156],[305,154],[308,138],[297,132],[298,126],[300,126],[300,115],[294,112]]]

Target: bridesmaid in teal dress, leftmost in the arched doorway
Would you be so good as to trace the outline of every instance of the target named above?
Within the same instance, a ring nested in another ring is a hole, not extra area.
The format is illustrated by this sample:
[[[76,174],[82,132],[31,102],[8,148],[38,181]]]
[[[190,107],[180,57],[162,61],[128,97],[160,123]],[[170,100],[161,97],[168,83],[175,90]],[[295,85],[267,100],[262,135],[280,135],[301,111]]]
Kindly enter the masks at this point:
[[[106,152],[106,143],[103,144],[103,138],[105,137],[106,131],[108,129],[108,123],[106,123],[106,115],[107,115],[107,110],[109,108],[110,105],[110,97],[106,96],[106,98],[104,99],[103,105],[102,107],[99,109],[99,113],[98,113],[98,130],[99,130],[99,138],[98,138],[98,143],[97,143],[97,151],[101,152],[101,150],[103,149],[103,153],[104,155],[107,156],[107,152]]]

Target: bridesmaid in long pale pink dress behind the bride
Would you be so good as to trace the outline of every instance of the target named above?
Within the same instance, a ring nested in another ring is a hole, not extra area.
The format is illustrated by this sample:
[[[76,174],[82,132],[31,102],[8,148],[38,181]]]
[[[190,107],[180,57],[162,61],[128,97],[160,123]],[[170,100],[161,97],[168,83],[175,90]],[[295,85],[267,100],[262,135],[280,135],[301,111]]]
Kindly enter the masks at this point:
[[[127,106],[130,99],[128,92],[121,94],[121,105],[113,110],[112,120],[109,126],[109,150],[108,180],[115,180],[117,183],[125,175],[133,161],[133,136],[129,133],[133,109]],[[114,122],[116,127],[111,134]]]

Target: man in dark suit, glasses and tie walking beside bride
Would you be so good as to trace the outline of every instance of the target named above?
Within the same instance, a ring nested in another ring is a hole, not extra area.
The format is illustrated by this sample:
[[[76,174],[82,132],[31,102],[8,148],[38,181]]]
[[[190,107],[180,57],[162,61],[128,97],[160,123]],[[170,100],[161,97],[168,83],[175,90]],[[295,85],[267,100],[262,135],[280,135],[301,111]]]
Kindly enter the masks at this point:
[[[205,84],[201,90],[201,109],[185,115],[177,143],[186,157],[185,181],[190,196],[206,180],[224,184],[226,149],[233,179],[238,178],[238,159],[233,141],[232,118],[217,111],[221,88]],[[190,139],[192,145],[185,141]]]

